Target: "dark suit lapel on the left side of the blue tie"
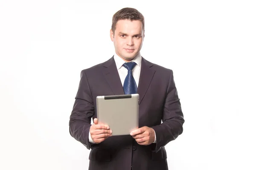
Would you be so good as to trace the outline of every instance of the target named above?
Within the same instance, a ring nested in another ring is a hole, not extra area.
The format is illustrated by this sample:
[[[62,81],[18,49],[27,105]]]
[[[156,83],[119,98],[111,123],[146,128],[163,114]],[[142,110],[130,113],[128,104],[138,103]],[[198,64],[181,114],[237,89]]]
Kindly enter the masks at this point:
[[[122,87],[122,82],[116,69],[114,57],[111,57],[111,59],[103,64],[103,74],[114,95],[125,94]]]

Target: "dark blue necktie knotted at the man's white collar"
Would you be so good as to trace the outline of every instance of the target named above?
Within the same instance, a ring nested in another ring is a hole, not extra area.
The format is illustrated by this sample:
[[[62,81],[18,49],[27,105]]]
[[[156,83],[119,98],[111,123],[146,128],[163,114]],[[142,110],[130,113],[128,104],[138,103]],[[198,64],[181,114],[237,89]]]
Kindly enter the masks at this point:
[[[128,74],[125,77],[124,82],[124,92],[125,94],[136,94],[137,93],[137,85],[134,77],[132,76],[132,69],[135,67],[135,62],[125,62],[123,66],[128,70]]]

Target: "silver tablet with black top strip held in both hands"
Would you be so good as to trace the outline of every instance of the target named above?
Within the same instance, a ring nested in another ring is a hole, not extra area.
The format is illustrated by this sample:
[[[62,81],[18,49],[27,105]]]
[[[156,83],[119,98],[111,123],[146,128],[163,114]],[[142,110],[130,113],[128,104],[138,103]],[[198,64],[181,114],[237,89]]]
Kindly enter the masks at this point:
[[[112,130],[112,136],[130,135],[139,127],[139,94],[97,96],[97,118]]]

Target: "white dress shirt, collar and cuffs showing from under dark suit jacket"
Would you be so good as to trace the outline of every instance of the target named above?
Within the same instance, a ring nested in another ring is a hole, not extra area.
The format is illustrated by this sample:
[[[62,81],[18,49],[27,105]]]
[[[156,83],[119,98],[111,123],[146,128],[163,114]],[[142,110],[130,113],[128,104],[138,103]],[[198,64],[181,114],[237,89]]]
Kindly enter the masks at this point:
[[[131,60],[131,62],[135,62],[137,64],[132,69],[132,76],[135,79],[137,87],[139,86],[141,59],[142,59],[142,57],[139,53],[139,54],[137,54],[136,57],[134,57],[134,59]],[[121,57],[119,57],[116,53],[114,54],[114,60],[116,62],[116,68],[117,68],[117,71],[118,71],[118,74],[119,74],[119,77],[120,77],[120,80],[121,80],[122,86],[123,86],[124,82],[125,82],[125,77],[128,74],[128,70],[123,66],[125,61]],[[154,133],[155,133],[155,131],[154,131]],[[155,133],[155,140],[153,143],[156,143],[156,141],[157,141],[157,138],[156,138],[156,133]],[[89,132],[89,142],[94,143],[90,136],[90,132]]]

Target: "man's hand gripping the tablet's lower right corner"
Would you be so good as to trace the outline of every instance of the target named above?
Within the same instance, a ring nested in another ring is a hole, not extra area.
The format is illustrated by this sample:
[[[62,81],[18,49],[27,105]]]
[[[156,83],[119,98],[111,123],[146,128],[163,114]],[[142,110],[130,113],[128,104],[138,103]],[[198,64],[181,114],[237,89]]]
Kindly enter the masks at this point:
[[[152,142],[154,142],[154,139],[155,139],[154,129],[147,126],[143,126],[132,131],[130,135],[140,145],[149,145]]]

